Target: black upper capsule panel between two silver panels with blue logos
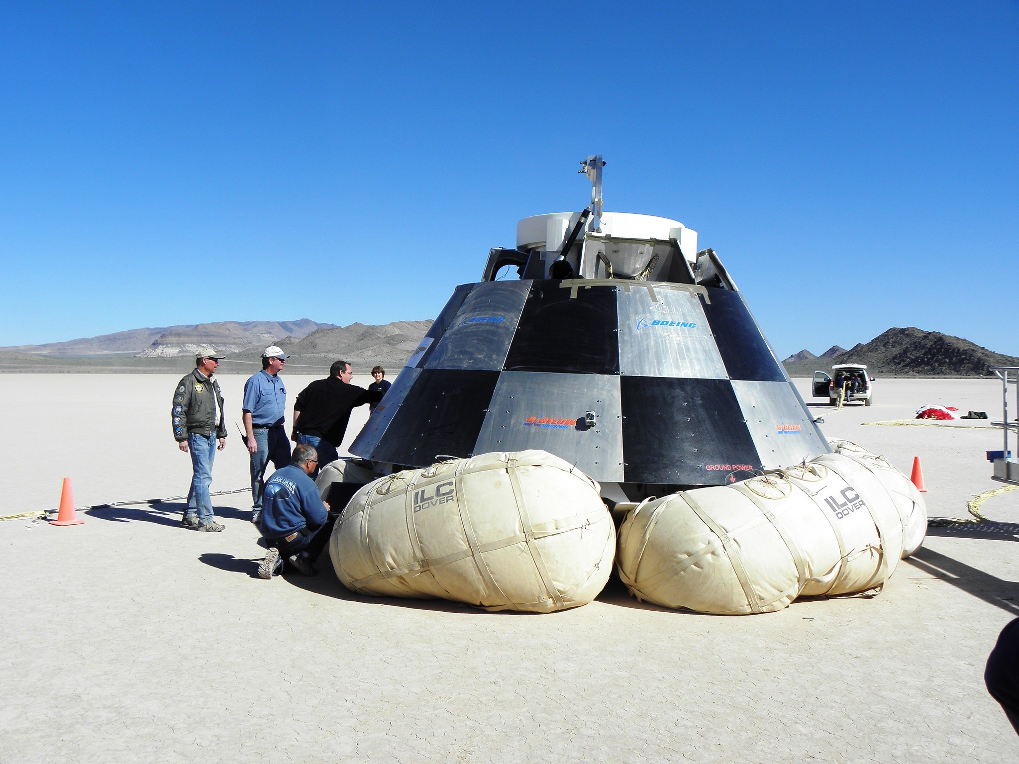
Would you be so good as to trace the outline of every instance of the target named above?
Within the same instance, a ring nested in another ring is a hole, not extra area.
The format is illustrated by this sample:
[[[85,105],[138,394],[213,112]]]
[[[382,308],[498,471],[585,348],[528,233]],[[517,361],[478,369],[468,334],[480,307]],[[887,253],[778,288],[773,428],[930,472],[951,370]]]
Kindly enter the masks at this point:
[[[535,281],[524,304],[505,371],[619,374],[615,287],[571,288]]]

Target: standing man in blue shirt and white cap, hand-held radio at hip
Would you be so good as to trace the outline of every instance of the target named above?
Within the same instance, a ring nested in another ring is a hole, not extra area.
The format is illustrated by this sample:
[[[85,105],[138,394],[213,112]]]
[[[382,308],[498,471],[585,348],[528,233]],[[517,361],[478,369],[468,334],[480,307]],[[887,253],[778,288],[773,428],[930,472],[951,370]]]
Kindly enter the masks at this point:
[[[290,463],[290,444],[283,430],[286,388],[279,377],[287,358],[282,348],[269,345],[262,352],[262,371],[245,383],[242,407],[245,443],[251,453],[252,523],[256,524],[262,511],[266,465],[271,459],[272,466],[279,470]]]

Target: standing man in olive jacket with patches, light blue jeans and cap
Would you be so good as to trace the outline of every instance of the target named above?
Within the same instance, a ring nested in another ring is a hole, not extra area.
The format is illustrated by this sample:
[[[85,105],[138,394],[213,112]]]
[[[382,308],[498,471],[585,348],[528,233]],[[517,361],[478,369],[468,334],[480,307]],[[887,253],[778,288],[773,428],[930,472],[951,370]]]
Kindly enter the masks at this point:
[[[196,368],[182,377],[173,393],[173,439],[192,457],[192,484],[187,491],[187,508],[180,525],[199,531],[218,533],[224,526],[212,513],[209,485],[212,483],[212,462],[217,450],[226,445],[226,423],[223,418],[223,395],[213,377],[222,356],[200,356]]]

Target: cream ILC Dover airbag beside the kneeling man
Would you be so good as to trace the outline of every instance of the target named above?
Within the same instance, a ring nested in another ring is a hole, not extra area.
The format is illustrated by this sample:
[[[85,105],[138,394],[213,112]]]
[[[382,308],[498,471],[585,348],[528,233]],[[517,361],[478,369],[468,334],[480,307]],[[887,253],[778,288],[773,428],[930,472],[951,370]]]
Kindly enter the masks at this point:
[[[361,488],[329,542],[336,576],[369,595],[550,612],[605,586],[615,528],[584,473],[540,450],[485,453]]]

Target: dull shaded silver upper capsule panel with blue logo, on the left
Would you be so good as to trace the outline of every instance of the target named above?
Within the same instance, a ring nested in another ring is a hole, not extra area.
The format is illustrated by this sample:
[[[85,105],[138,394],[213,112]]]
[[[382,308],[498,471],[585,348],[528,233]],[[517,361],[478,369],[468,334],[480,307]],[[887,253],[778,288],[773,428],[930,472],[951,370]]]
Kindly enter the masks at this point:
[[[426,369],[502,368],[531,281],[488,281],[467,295]]]

